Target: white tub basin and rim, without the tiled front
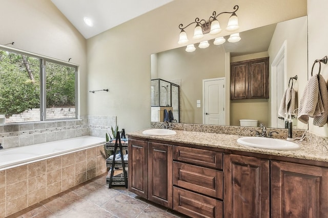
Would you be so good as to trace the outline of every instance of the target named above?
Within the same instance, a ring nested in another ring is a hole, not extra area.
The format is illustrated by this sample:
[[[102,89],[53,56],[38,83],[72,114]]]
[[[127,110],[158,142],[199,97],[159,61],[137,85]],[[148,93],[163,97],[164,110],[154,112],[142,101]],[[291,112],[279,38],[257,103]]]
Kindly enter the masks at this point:
[[[33,144],[31,146],[0,150],[0,171],[70,152],[104,144],[105,138],[81,136],[76,138]]]

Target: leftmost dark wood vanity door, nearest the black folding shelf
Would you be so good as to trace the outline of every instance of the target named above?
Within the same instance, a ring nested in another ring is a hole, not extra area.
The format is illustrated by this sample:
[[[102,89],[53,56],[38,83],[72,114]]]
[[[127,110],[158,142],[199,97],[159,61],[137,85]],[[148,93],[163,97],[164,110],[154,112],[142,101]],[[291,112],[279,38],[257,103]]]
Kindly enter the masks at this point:
[[[129,139],[129,191],[148,198],[148,142]]]

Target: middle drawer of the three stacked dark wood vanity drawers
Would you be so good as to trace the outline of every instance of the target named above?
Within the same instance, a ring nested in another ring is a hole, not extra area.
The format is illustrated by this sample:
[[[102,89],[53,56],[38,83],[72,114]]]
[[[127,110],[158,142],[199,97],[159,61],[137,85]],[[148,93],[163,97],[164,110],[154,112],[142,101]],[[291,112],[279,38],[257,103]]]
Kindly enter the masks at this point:
[[[173,185],[223,199],[223,172],[216,169],[174,161]]]

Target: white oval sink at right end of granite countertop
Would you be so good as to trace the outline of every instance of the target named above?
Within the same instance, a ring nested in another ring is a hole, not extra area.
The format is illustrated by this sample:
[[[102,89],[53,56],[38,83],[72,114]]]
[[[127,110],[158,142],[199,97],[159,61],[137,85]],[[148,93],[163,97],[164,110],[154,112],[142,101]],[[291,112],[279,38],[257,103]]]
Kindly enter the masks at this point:
[[[298,150],[299,145],[292,142],[277,138],[265,137],[241,137],[237,139],[237,143],[242,146],[249,146],[260,149],[273,149],[273,150]]]

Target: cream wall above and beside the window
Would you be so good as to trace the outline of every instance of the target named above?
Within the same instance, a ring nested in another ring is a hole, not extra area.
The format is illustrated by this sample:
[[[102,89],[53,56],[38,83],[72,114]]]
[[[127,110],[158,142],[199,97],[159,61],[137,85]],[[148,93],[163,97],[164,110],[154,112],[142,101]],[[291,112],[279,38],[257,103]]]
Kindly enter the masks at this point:
[[[50,0],[0,0],[0,44],[79,65],[80,114],[87,115],[86,40]]]

